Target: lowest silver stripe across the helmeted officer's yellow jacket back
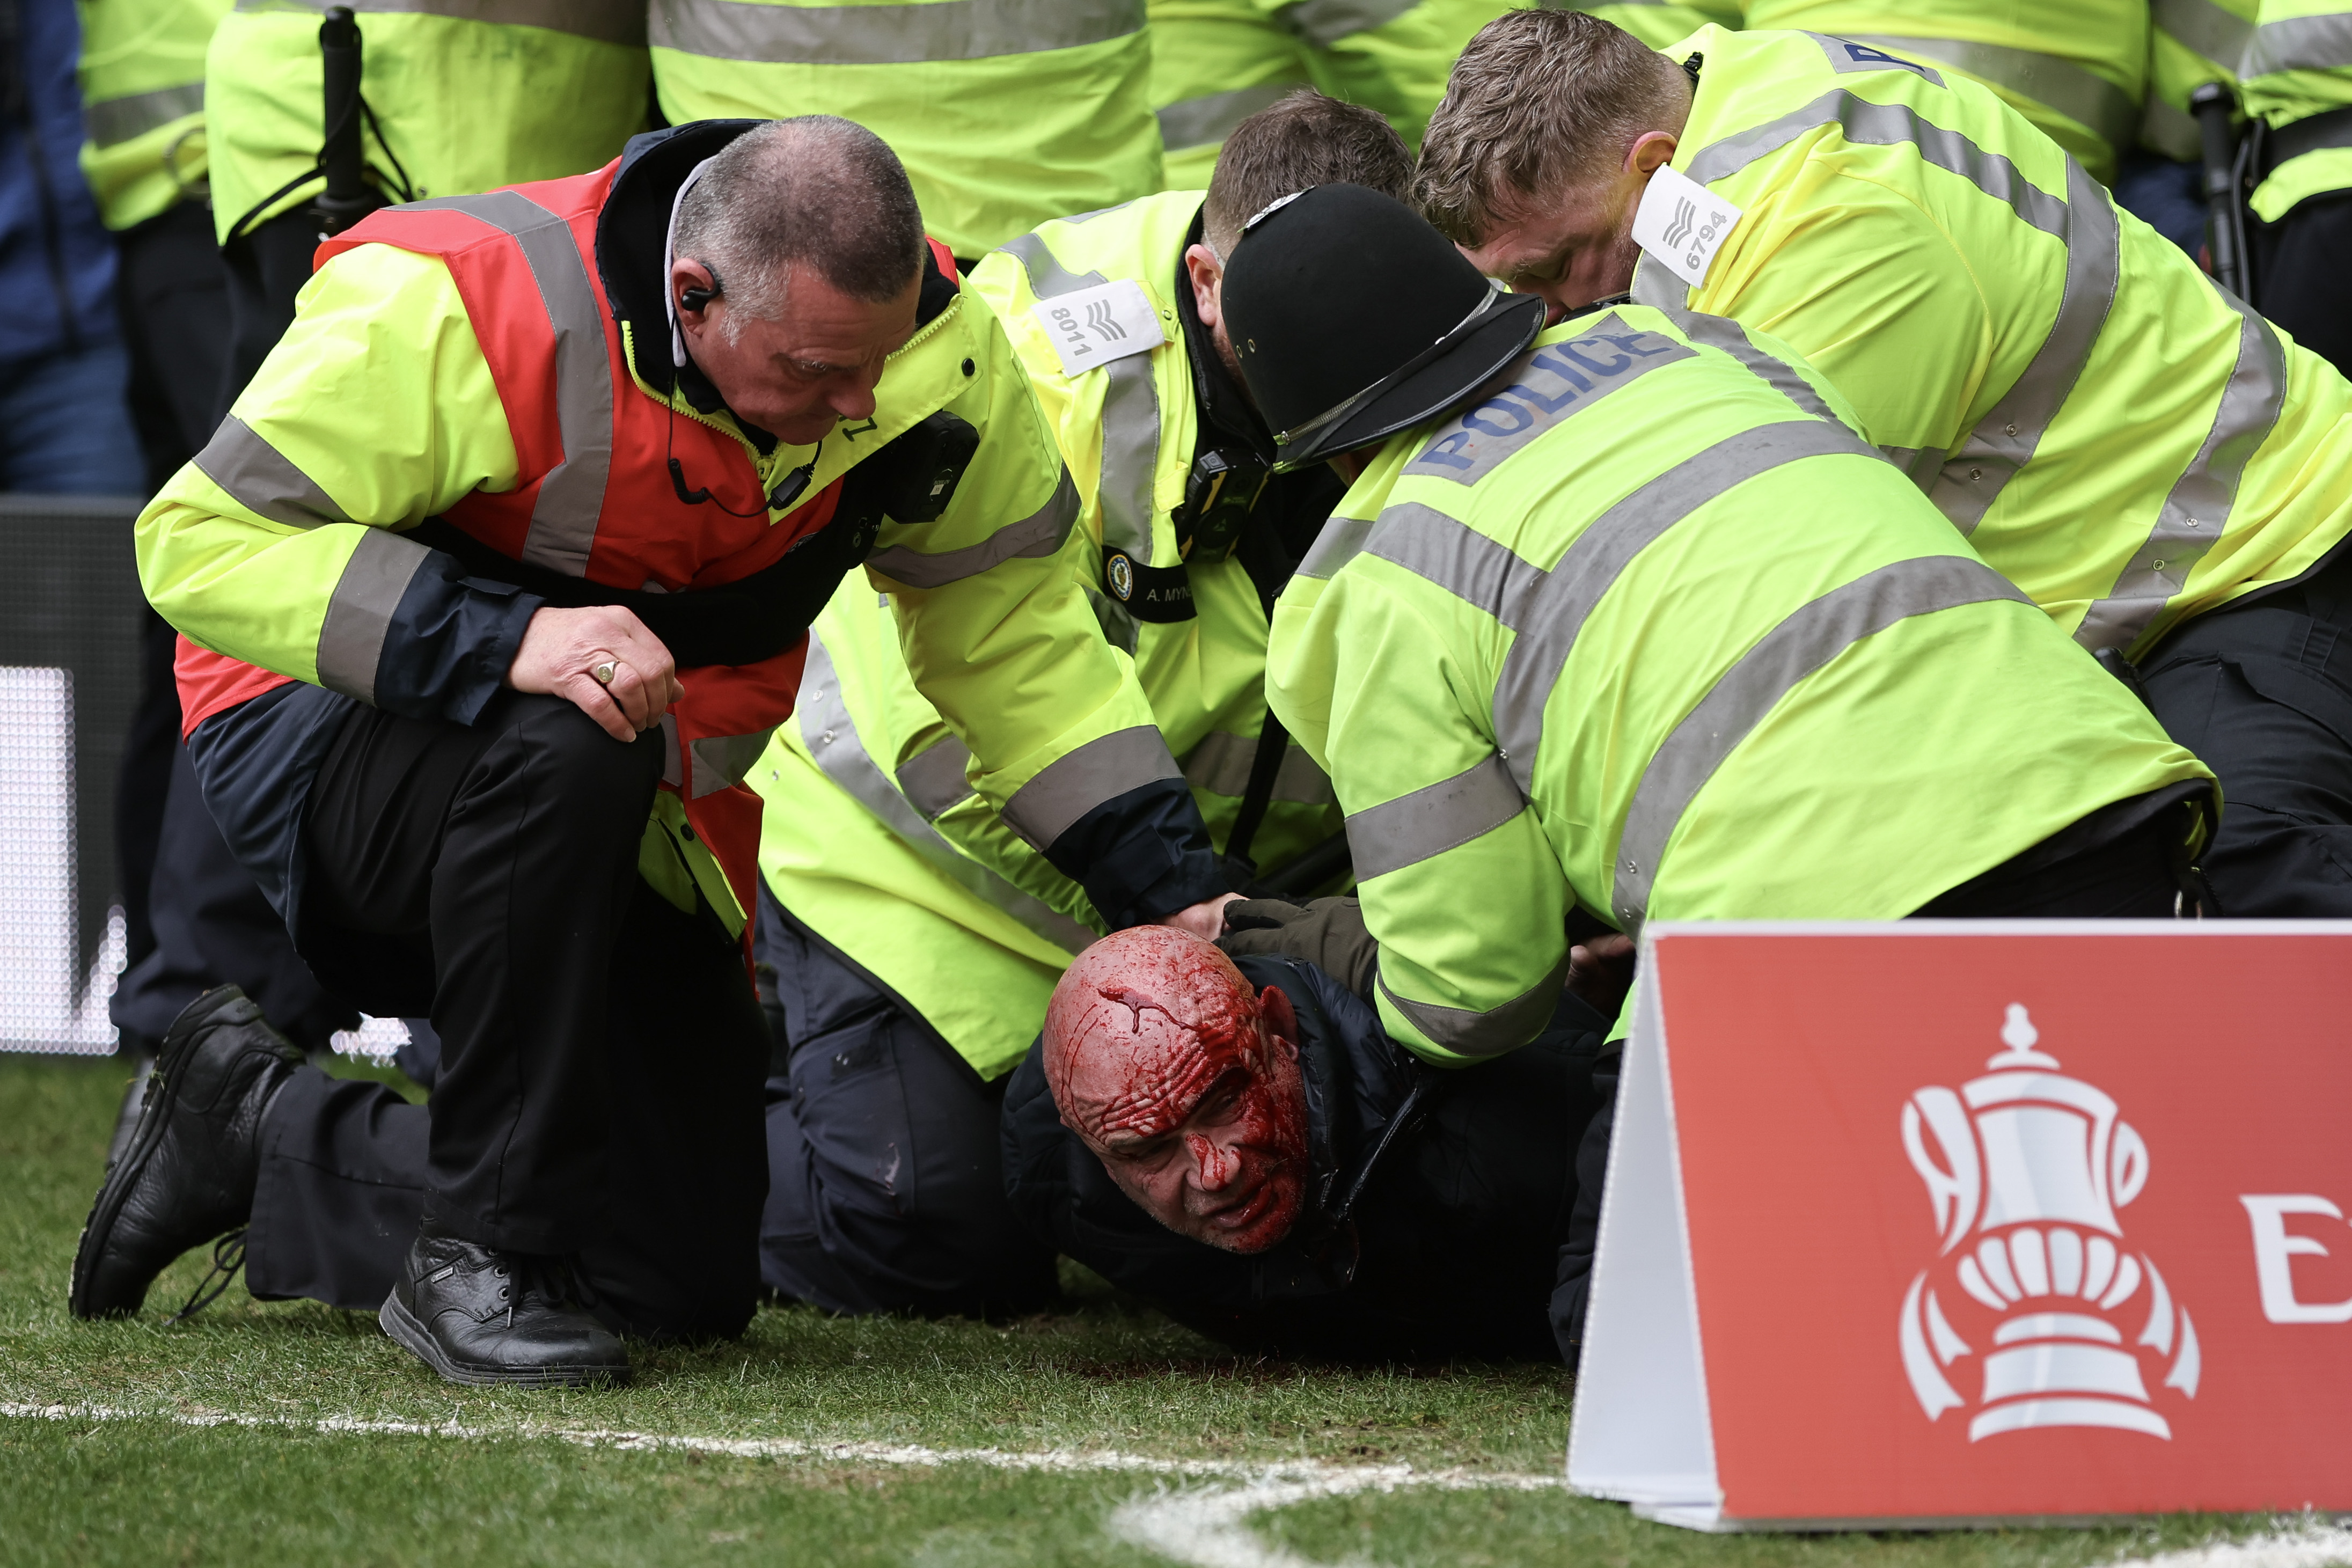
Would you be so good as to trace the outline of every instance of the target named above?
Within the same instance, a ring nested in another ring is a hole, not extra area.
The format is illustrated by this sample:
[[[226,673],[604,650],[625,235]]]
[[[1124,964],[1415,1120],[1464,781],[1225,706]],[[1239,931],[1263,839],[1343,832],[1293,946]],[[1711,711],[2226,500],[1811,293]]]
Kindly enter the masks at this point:
[[[1611,889],[1623,931],[1639,931],[1658,879],[1658,858],[1691,799],[1799,682],[1900,621],[1987,599],[2032,607],[2009,578],[1978,559],[1924,555],[1832,588],[1757,639],[1684,715],[1642,771],[1618,837]]]

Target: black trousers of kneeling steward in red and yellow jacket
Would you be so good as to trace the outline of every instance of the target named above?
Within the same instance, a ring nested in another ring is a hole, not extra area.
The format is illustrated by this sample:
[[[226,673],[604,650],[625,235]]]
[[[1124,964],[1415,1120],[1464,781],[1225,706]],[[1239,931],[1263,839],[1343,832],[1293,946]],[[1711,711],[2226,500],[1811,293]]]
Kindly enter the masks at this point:
[[[428,1107],[296,1074],[263,1126],[256,1295],[374,1307],[421,1218],[576,1253],[602,1309],[727,1335],[760,1281],[767,1027],[741,947],[637,877],[659,733],[503,691],[473,726],[355,710],[310,790],[296,943],[430,1016]]]

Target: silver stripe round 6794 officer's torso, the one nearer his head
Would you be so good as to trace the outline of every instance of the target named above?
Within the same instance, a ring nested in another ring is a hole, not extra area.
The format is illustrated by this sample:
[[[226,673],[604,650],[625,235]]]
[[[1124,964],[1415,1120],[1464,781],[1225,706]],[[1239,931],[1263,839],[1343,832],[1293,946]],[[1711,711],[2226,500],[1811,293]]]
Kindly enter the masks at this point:
[[[2107,324],[2107,310],[2114,306],[2124,242],[2114,205],[2072,158],[2065,160],[2065,181],[2067,226],[2058,235],[2065,242],[2065,292],[2058,296],[2051,331],[2042,339],[2025,374],[1969,430],[1969,440],[1959,444],[1959,451],[1945,461],[1943,473],[1926,489],[1926,498],[1962,534],[1976,531],[2002,487],[2032,461],[2042,435],[2049,433],[2058,409],[2082,381],[2098,334]]]

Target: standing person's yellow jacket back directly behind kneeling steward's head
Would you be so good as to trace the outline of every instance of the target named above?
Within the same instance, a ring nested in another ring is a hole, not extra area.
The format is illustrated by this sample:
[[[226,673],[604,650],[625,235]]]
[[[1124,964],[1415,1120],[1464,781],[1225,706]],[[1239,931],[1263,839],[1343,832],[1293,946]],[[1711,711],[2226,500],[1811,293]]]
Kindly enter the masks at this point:
[[[1160,188],[1143,0],[654,0],[649,28],[673,122],[856,120],[957,256]]]

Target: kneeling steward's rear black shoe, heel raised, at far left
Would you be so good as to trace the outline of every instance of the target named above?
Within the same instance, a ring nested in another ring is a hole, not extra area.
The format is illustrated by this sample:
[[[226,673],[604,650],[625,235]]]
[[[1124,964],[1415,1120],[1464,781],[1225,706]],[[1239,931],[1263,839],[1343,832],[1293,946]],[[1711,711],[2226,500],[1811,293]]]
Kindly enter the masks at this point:
[[[205,992],[172,1020],[129,1147],[82,1225],[73,1316],[136,1312],[165,1265],[245,1225],[261,1175],[261,1117],[301,1060],[235,985]]]

